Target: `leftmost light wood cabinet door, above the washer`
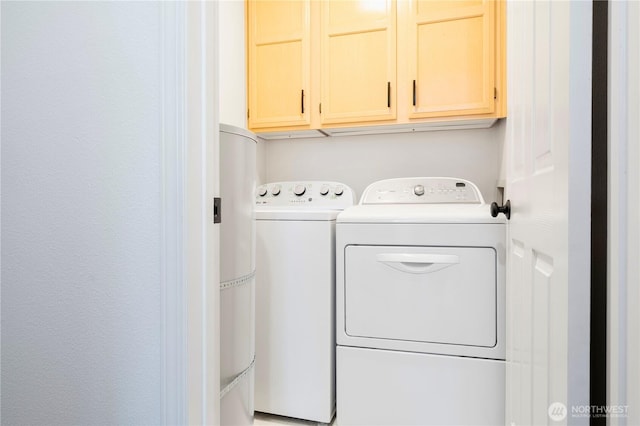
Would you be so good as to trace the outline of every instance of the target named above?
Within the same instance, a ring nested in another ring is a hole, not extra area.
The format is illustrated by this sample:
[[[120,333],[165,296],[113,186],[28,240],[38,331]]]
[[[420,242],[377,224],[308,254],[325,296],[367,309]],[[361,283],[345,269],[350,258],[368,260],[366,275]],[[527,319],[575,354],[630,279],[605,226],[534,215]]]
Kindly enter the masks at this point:
[[[249,128],[310,123],[310,1],[248,3]]]

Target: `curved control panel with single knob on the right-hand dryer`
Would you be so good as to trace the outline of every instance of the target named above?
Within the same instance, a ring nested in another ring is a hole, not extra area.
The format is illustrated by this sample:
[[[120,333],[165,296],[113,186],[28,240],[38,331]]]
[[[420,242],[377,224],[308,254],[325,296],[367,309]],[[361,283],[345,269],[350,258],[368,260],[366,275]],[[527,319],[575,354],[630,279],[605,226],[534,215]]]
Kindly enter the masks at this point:
[[[478,187],[449,177],[386,179],[369,185],[360,204],[484,204]]]

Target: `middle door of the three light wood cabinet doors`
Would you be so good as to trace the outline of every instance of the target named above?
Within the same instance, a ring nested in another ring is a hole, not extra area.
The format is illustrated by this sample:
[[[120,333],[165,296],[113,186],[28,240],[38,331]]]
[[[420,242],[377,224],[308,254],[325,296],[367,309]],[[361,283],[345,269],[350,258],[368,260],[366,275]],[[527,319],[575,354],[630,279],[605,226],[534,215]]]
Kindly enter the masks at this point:
[[[322,124],[394,119],[395,1],[325,1],[321,20]]]

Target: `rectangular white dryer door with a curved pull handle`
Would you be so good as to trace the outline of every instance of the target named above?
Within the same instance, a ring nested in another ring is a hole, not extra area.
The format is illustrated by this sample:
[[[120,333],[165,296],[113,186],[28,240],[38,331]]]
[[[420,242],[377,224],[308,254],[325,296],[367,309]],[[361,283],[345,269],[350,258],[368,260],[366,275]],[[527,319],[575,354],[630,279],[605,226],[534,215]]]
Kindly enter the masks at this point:
[[[494,347],[496,300],[493,248],[346,247],[349,336]]]

